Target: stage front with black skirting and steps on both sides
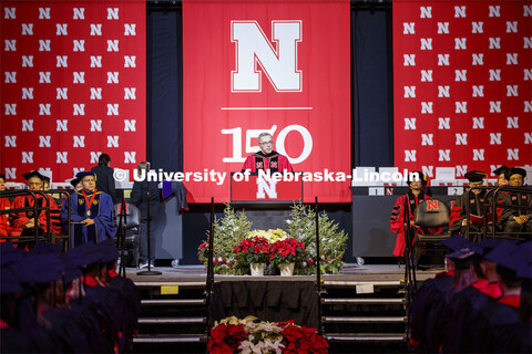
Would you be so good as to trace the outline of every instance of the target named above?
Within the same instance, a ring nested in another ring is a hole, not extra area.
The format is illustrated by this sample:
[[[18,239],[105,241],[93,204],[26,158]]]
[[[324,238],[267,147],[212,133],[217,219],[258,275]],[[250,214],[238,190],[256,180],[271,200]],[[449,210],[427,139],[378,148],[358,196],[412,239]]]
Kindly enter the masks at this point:
[[[270,322],[293,320],[323,329],[330,353],[398,353],[406,348],[405,266],[346,264],[340,274],[321,275],[321,299],[316,275],[215,274],[208,306],[204,266],[153,270],[162,274],[139,275],[139,270],[126,268],[126,277],[143,296],[135,353],[154,348],[163,353],[205,352],[206,333],[214,321],[232,315]],[[418,284],[442,270],[418,271]]]

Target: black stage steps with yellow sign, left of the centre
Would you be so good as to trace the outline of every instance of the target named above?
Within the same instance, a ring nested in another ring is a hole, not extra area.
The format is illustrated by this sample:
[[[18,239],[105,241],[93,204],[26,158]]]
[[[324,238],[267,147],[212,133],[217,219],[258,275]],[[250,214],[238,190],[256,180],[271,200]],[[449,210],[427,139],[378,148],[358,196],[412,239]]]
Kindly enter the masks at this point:
[[[142,294],[134,353],[205,353],[205,282],[135,282]]]

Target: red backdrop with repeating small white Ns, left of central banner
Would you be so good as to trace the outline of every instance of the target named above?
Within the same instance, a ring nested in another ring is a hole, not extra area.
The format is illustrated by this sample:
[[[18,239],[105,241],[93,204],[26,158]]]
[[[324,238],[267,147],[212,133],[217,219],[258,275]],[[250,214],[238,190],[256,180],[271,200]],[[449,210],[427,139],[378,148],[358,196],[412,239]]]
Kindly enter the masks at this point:
[[[2,1],[1,153],[7,179],[62,183],[108,153],[145,158],[145,2]]]

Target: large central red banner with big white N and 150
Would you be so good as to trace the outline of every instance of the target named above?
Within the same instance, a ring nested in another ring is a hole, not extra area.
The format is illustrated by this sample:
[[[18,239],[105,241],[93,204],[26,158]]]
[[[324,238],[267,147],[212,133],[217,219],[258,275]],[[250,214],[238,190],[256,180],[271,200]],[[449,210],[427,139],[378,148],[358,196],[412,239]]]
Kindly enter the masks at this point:
[[[227,176],[185,181],[193,201],[228,201],[263,132],[313,173],[305,201],[350,200],[349,33],[347,0],[183,2],[184,169]]]

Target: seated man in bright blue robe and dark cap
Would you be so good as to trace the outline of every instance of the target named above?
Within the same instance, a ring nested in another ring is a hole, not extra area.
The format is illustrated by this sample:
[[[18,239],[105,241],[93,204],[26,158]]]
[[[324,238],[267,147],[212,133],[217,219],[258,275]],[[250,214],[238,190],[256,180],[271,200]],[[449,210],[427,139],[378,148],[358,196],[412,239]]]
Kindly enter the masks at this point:
[[[113,201],[111,197],[95,188],[94,174],[81,171],[76,175],[83,189],[71,196],[70,212],[72,220],[72,244],[100,242],[114,238],[116,229],[113,218]],[[68,214],[63,212],[63,221]]]

